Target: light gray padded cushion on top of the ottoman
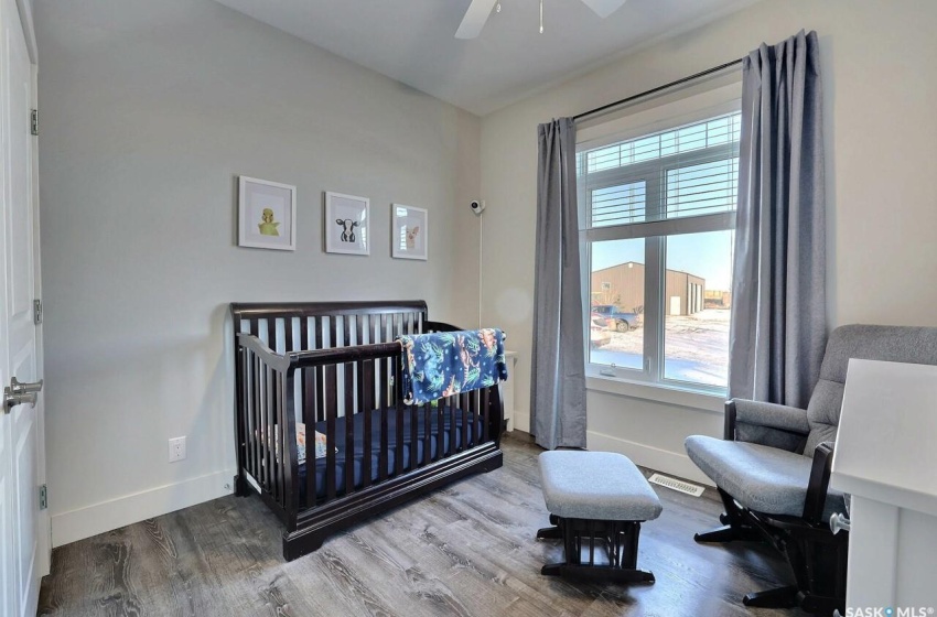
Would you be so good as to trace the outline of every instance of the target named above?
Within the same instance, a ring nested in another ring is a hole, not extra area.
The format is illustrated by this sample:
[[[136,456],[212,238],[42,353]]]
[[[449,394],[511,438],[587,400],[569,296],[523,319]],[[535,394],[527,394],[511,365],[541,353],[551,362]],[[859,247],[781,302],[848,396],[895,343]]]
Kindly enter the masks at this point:
[[[660,516],[657,494],[627,456],[551,451],[539,456],[547,510],[562,518],[646,521]]]

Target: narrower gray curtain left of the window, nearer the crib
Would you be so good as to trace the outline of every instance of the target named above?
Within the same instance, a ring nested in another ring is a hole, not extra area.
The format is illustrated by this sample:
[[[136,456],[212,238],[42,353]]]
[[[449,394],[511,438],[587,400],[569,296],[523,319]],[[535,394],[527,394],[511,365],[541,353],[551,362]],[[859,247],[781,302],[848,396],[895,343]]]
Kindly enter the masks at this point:
[[[531,432],[548,450],[585,447],[575,126],[560,118],[538,133]]]

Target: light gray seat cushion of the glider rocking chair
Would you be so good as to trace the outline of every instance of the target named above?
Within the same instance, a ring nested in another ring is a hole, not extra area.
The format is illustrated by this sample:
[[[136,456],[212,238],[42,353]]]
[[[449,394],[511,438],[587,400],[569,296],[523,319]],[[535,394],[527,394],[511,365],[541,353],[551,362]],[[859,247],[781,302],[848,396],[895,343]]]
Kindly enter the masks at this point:
[[[812,458],[761,444],[692,435],[690,459],[739,504],[766,515],[804,516]],[[842,492],[830,490],[823,520],[844,512]]]

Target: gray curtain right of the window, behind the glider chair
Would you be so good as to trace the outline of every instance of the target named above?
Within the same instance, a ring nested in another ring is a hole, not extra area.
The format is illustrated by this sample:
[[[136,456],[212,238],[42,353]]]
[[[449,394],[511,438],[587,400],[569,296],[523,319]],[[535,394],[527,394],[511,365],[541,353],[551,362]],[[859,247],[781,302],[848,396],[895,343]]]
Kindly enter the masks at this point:
[[[827,332],[817,33],[743,62],[729,393],[804,408]]]

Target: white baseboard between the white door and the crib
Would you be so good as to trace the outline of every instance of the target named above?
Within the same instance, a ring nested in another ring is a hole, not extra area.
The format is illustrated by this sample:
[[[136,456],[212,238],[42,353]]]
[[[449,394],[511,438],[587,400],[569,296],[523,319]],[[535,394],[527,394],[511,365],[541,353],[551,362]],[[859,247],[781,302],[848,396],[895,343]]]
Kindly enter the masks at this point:
[[[234,469],[169,484],[52,516],[52,545],[69,544],[98,533],[151,519],[231,492]]]

